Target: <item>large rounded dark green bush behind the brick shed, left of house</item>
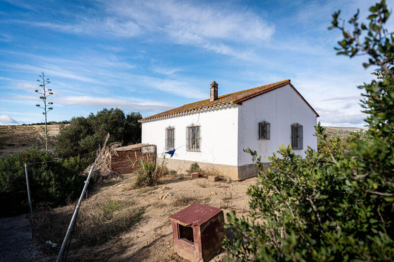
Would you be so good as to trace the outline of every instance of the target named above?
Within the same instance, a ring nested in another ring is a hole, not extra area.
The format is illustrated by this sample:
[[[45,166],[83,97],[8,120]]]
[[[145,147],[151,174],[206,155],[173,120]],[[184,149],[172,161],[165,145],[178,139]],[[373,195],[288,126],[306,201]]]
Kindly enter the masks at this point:
[[[140,113],[125,113],[116,109],[106,109],[91,113],[88,117],[74,117],[68,125],[59,129],[56,152],[60,157],[70,157],[95,151],[104,143],[107,133],[108,143],[120,142],[124,145],[139,143],[141,139]]]

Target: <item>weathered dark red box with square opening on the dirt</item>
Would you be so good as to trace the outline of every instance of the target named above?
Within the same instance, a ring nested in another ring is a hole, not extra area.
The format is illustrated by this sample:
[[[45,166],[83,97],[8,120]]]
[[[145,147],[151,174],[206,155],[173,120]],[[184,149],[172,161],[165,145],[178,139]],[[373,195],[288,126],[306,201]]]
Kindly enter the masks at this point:
[[[209,261],[225,238],[223,211],[213,206],[191,204],[169,217],[174,250],[192,262]]]

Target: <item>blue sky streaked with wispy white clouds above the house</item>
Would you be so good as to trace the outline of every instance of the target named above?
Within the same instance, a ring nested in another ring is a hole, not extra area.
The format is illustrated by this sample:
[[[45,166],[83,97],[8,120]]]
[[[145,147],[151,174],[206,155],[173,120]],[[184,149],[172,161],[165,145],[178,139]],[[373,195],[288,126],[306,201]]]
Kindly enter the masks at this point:
[[[48,120],[119,107],[149,116],[285,79],[324,125],[363,126],[365,58],[335,55],[341,9],[373,1],[1,1],[0,124],[43,121],[34,89],[55,92]],[[388,1],[393,8],[393,1]],[[389,29],[393,28],[393,19]]]

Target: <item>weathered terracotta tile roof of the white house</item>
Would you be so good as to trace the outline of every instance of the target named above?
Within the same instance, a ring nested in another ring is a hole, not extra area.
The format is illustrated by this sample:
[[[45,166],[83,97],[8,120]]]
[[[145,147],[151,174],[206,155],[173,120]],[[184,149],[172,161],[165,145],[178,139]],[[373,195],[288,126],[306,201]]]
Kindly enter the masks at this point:
[[[242,105],[242,102],[244,102],[244,101],[247,101],[251,98],[262,95],[266,92],[272,91],[276,88],[284,87],[286,85],[290,85],[291,87],[293,87],[293,85],[290,84],[290,80],[288,79],[288,80],[272,83],[269,85],[264,85],[261,87],[254,87],[254,88],[250,88],[250,89],[246,89],[246,90],[242,90],[242,91],[238,91],[238,92],[234,92],[234,93],[230,93],[230,94],[221,95],[218,97],[217,100],[212,101],[212,102],[209,99],[205,99],[205,100],[197,101],[194,103],[186,104],[186,105],[183,105],[183,106],[180,106],[180,107],[177,107],[177,108],[174,108],[174,109],[171,109],[171,110],[168,110],[168,111],[165,111],[165,112],[153,115],[153,116],[145,117],[145,118],[140,119],[138,121],[144,122],[146,120],[150,120],[150,119],[153,120],[153,119],[161,118],[164,116],[173,116],[173,115],[178,115],[178,114],[182,114],[182,113],[186,113],[186,112],[193,112],[193,111],[215,108],[215,107],[219,107],[219,106],[226,106],[226,105],[231,105],[231,104]],[[301,97],[301,99],[311,108],[311,110],[316,114],[316,116],[319,117],[319,115],[316,113],[316,111],[309,105],[308,102],[306,102],[306,100],[301,96],[301,94],[296,90],[296,88],[293,87],[293,89]]]

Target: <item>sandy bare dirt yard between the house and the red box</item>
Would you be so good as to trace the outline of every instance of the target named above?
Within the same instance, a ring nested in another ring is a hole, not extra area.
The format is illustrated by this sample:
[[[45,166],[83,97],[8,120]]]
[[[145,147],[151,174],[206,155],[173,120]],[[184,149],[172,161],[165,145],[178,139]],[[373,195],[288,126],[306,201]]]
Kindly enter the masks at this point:
[[[81,209],[84,205],[102,199],[131,201],[136,206],[146,208],[139,222],[101,245],[82,246],[70,250],[67,259],[183,262],[185,260],[173,251],[172,227],[168,217],[189,204],[201,203],[221,208],[227,222],[226,214],[230,210],[235,210],[237,215],[248,212],[249,197],[246,195],[246,190],[257,180],[257,177],[254,177],[244,181],[208,182],[206,178],[191,179],[189,176],[180,175],[176,178],[165,178],[164,184],[159,186],[129,190],[133,175],[123,175],[122,179],[113,180],[96,188],[92,195],[84,200]],[[166,197],[162,199],[165,195]],[[55,255],[44,256],[40,261],[55,258]],[[226,253],[221,250],[211,261],[226,261]]]

